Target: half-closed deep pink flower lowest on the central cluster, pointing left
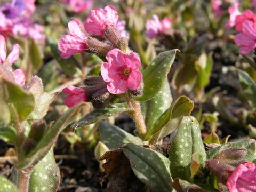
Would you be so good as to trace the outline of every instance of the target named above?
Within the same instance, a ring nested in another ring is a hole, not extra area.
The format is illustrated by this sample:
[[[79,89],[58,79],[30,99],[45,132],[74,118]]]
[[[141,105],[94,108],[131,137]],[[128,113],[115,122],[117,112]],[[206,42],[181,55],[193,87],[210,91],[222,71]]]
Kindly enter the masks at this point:
[[[85,93],[85,88],[83,87],[68,85],[62,92],[67,94],[65,104],[68,107],[73,107],[78,103],[86,102],[88,100],[88,95]]]

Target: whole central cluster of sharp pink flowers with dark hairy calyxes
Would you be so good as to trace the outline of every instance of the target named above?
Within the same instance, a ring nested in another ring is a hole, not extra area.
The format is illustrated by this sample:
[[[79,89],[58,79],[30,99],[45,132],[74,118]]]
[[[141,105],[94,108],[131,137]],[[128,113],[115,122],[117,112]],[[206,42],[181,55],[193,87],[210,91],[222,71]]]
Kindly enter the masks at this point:
[[[58,43],[60,57],[69,58],[88,51],[107,62],[101,66],[102,77],[87,77],[85,87],[63,89],[63,93],[68,94],[65,103],[73,107],[79,102],[91,101],[95,108],[102,108],[113,95],[138,89],[142,81],[140,58],[127,47],[129,34],[125,31],[125,21],[119,21],[114,6],[90,10],[83,24],[84,32],[78,20],[69,21],[70,34],[61,37]]]

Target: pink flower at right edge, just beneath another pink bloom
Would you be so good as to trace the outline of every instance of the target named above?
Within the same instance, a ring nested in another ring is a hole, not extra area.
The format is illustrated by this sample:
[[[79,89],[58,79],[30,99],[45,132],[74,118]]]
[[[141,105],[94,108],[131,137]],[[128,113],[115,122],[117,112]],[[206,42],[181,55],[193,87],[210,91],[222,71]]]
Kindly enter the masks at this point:
[[[243,22],[242,33],[235,36],[235,43],[239,48],[239,53],[249,54],[256,47],[256,26],[252,21]]]

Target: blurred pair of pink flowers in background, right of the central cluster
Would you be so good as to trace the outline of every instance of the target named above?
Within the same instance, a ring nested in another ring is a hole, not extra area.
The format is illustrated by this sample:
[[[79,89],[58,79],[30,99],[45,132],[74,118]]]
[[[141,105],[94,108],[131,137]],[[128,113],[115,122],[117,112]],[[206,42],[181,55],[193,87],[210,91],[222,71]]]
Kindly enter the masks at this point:
[[[146,22],[146,35],[149,38],[157,37],[161,33],[166,34],[167,30],[172,26],[172,20],[169,17],[165,17],[162,21],[159,20],[157,15],[153,15],[153,19]]]

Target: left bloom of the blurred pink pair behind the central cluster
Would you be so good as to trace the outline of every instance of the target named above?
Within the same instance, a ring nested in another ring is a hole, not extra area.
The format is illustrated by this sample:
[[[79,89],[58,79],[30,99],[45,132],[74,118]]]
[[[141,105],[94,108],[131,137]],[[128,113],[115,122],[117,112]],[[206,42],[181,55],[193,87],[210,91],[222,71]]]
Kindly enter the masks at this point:
[[[146,35],[149,38],[157,37],[159,35],[159,31],[162,30],[162,23],[160,22],[157,15],[153,15],[153,19],[150,19],[146,22]]]

